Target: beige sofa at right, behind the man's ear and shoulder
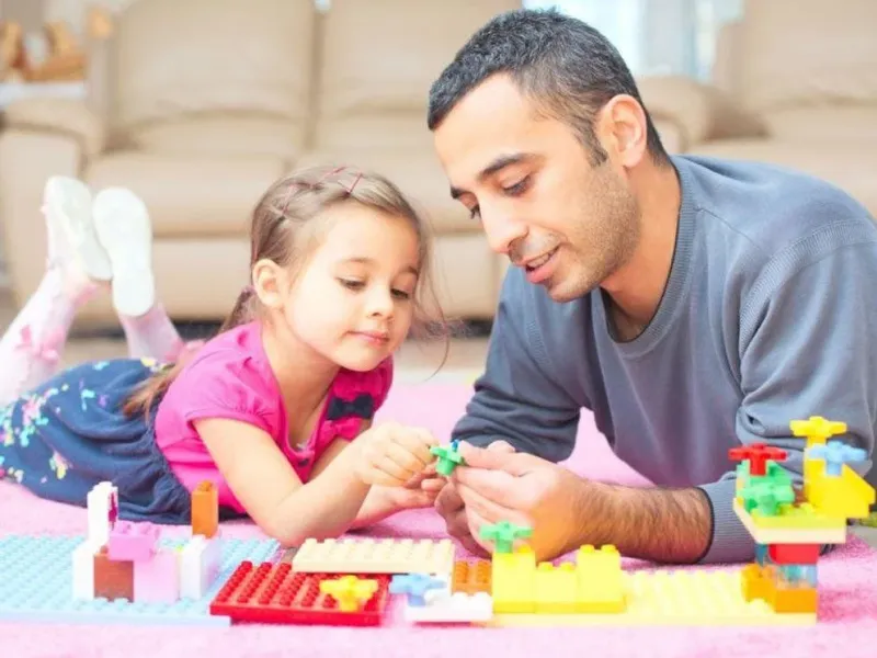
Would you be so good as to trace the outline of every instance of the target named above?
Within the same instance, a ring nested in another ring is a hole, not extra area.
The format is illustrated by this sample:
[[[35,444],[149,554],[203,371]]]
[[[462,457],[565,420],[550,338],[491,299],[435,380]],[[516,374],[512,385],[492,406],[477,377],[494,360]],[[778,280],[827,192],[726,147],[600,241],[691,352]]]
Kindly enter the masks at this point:
[[[877,2],[749,0],[718,39],[713,84],[640,80],[676,152],[816,174],[877,216]]]

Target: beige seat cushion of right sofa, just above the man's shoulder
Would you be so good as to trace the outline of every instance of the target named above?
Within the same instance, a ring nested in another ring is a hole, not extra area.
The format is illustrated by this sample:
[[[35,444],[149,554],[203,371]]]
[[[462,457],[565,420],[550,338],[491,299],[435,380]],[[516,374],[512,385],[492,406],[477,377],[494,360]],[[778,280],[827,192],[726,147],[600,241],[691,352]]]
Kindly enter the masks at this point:
[[[690,155],[754,160],[795,169],[846,191],[877,216],[877,149],[855,144],[801,144],[775,139],[727,139],[698,144]]]

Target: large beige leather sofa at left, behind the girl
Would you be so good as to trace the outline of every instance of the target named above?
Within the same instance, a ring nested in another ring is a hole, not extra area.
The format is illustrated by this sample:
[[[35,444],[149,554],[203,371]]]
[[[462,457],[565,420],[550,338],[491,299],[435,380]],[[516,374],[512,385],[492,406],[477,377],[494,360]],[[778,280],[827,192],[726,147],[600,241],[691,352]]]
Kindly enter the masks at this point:
[[[452,202],[425,126],[429,86],[513,0],[138,0],[92,44],[88,103],[7,107],[0,224],[14,298],[45,260],[43,185],[126,185],[153,220],[159,295],[179,320],[221,319],[247,283],[249,214],[291,168],[376,168],[426,212],[452,316],[489,319],[503,259]],[[106,299],[84,324],[114,322]]]

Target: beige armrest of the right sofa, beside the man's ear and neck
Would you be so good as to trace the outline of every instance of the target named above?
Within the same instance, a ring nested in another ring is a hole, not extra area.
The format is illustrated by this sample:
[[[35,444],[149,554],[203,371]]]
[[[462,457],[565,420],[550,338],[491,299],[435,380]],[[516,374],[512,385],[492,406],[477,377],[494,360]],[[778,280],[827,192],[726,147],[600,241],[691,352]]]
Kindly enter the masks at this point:
[[[648,76],[637,79],[646,110],[657,121],[676,124],[684,147],[710,139],[762,137],[761,120],[734,103],[721,90],[684,76]]]

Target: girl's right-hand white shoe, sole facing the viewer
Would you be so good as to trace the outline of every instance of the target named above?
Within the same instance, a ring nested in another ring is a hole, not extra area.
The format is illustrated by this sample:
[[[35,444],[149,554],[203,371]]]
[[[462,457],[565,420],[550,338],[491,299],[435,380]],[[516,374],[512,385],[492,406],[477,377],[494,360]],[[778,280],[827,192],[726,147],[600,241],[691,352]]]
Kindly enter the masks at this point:
[[[113,271],[113,306],[118,315],[141,316],[156,303],[152,224],[146,204],[130,190],[107,188],[94,197],[92,213]]]

